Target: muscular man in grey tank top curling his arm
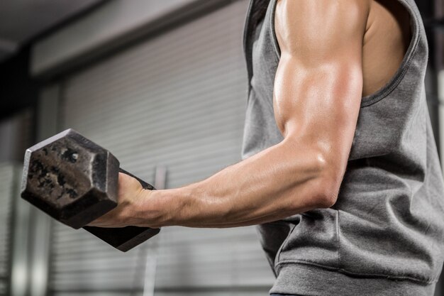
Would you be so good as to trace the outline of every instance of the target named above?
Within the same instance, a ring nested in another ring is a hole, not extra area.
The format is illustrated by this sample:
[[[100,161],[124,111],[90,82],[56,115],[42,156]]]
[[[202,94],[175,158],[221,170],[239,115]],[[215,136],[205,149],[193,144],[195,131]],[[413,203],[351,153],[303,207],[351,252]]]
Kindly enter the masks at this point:
[[[444,186],[414,0],[252,0],[243,156],[201,182],[119,177],[95,226],[258,226],[282,295],[433,295]]]

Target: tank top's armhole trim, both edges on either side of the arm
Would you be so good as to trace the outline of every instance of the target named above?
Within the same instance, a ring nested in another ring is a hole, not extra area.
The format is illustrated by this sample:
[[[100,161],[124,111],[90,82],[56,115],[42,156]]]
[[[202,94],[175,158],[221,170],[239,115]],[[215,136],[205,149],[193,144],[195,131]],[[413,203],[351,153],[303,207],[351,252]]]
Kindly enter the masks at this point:
[[[280,59],[280,49],[279,49],[279,43],[277,42],[276,32],[274,31],[274,12],[276,11],[276,5],[277,0],[272,0],[272,11],[270,13],[270,31],[272,34],[272,45],[274,48],[274,53],[277,56],[277,59]],[[384,99],[384,97],[387,97],[401,82],[402,78],[406,74],[407,70],[409,70],[409,65],[411,63],[411,60],[414,57],[414,54],[416,52],[416,48],[418,48],[419,43],[419,35],[420,35],[420,27],[418,24],[418,18],[416,11],[411,8],[410,4],[407,3],[406,0],[398,0],[404,8],[409,12],[411,22],[411,31],[412,36],[409,43],[409,48],[407,48],[406,54],[404,55],[404,58],[401,62],[401,65],[399,65],[398,70],[396,70],[395,74],[392,76],[392,78],[385,84],[382,88],[377,90],[376,92],[369,94],[368,96],[361,98],[361,108],[370,106],[376,102],[379,102],[380,100]]]

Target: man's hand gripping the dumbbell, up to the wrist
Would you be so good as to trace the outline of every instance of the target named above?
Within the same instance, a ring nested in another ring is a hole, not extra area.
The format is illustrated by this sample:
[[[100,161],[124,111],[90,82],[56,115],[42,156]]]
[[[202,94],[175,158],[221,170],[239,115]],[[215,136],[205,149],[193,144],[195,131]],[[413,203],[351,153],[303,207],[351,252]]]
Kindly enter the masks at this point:
[[[143,190],[140,182],[135,178],[118,173],[117,207],[110,212],[92,221],[88,226],[97,227],[125,227],[138,226],[138,212],[141,212],[143,199],[150,190]]]

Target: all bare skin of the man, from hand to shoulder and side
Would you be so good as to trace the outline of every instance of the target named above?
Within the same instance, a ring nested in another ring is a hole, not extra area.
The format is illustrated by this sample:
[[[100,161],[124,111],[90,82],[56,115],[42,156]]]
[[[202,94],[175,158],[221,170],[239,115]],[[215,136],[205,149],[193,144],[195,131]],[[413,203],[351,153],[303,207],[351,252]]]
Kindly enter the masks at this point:
[[[408,22],[402,9],[383,1],[279,0],[273,103],[284,140],[176,189],[143,190],[120,174],[118,207],[91,225],[223,228],[333,206],[361,97],[396,72],[409,43]]]

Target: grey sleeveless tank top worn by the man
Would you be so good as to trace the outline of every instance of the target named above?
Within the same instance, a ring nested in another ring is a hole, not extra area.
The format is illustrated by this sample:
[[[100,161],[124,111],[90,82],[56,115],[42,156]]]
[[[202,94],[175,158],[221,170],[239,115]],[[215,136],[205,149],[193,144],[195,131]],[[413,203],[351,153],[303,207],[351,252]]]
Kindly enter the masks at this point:
[[[250,0],[245,21],[243,158],[283,139],[272,102],[276,1]],[[338,201],[257,226],[277,275],[271,292],[433,295],[444,260],[444,186],[424,88],[428,47],[414,0],[397,1],[410,13],[411,42],[392,79],[362,97]]]

